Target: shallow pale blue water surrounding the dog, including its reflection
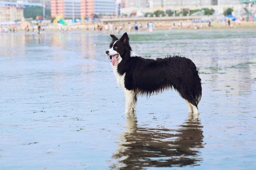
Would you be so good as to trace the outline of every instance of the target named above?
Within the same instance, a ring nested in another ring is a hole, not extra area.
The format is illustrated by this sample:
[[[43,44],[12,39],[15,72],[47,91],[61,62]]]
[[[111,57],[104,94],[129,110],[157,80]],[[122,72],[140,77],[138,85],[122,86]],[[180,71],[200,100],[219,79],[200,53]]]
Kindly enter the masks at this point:
[[[139,97],[136,115],[104,55],[110,36],[0,34],[1,170],[256,167],[254,30],[130,35],[143,57],[200,69],[200,116],[175,92]]]

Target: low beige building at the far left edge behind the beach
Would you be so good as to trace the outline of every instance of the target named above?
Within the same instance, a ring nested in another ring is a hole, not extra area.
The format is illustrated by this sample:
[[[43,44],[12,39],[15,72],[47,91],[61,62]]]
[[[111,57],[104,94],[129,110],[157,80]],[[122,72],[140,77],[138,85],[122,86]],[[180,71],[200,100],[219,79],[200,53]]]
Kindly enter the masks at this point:
[[[0,7],[0,22],[24,21],[23,8],[16,6]]]

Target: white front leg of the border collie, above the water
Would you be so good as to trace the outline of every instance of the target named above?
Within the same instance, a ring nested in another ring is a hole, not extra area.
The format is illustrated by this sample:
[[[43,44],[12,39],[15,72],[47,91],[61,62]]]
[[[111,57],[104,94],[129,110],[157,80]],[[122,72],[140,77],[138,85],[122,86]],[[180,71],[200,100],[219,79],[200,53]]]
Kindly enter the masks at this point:
[[[125,112],[134,112],[136,110],[136,93],[133,90],[125,90]]]

